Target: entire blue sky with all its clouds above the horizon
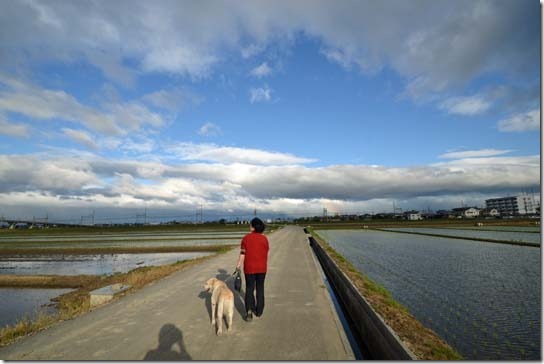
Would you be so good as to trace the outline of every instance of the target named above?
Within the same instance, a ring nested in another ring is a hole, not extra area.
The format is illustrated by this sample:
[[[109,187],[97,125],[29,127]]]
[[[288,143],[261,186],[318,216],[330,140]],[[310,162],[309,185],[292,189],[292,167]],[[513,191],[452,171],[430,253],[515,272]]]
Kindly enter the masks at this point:
[[[365,213],[540,190],[536,1],[5,8],[5,216]]]

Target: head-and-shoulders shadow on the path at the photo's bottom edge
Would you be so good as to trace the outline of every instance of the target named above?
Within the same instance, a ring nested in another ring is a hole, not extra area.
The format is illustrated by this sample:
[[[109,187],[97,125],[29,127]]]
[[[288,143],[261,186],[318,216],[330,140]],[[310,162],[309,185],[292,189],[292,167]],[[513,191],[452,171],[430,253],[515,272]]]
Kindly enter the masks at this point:
[[[174,350],[174,345],[179,351]],[[185,349],[183,333],[174,324],[165,324],[159,331],[159,346],[145,354],[144,360],[149,361],[182,361],[192,360],[191,355]]]

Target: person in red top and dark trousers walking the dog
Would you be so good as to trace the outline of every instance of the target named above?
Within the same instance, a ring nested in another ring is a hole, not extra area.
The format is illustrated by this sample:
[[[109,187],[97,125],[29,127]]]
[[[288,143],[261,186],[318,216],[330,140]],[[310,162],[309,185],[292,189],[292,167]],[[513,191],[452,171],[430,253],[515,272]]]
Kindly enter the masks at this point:
[[[268,239],[263,235],[264,223],[259,218],[251,220],[249,234],[243,237],[236,269],[244,264],[246,278],[246,321],[259,317],[264,310],[264,278],[268,259]],[[255,290],[257,297],[255,297]]]

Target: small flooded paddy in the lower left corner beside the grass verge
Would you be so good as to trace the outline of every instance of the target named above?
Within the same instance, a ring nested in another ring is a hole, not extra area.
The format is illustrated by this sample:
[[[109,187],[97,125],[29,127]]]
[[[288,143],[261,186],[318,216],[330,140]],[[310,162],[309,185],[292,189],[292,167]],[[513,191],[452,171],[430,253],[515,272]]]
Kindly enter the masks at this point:
[[[69,291],[71,289],[66,288],[0,288],[0,327],[13,325],[23,318],[32,319],[40,311],[56,313],[51,299]]]

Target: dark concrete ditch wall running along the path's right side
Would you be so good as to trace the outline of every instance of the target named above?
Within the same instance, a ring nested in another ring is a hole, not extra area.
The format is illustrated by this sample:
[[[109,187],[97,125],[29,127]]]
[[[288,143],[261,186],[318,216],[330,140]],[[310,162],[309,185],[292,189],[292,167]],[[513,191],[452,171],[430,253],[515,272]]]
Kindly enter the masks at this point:
[[[319,243],[313,237],[308,239],[338,301],[343,306],[344,315],[348,318],[355,341],[365,359],[417,360]]]

